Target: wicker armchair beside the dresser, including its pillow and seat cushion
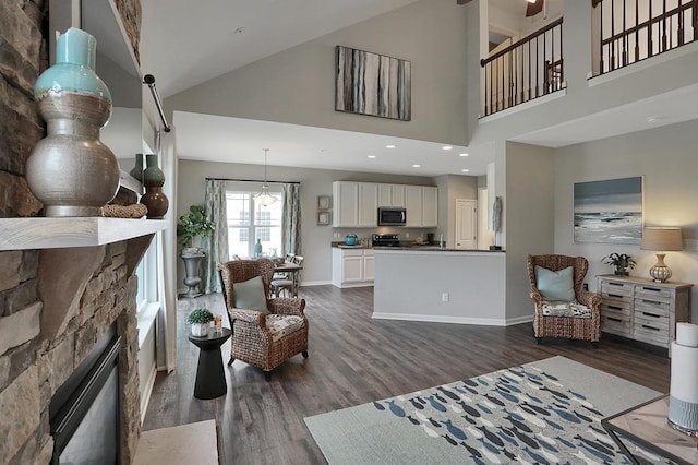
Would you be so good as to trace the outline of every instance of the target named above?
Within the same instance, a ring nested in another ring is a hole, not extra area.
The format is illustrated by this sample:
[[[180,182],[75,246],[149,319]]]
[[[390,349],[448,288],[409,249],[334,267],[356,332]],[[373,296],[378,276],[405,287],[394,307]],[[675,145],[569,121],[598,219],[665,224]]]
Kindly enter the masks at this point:
[[[583,257],[528,255],[533,332],[542,337],[599,342],[601,296],[582,289],[589,269]]]

